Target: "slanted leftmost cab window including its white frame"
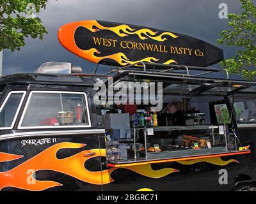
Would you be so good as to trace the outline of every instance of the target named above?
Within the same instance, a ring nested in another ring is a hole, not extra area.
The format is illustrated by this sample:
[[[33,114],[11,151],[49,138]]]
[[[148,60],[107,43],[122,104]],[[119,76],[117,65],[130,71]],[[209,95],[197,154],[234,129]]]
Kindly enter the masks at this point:
[[[0,128],[13,128],[15,119],[19,113],[24,99],[24,91],[13,91],[8,94],[0,108]]]

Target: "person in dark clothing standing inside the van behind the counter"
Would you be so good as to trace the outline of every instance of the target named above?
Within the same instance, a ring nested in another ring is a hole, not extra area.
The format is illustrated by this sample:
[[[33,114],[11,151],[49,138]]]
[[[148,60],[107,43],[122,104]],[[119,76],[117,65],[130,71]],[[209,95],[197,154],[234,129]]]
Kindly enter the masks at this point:
[[[184,114],[177,108],[176,103],[168,103],[167,110],[171,113],[172,126],[186,126]],[[181,145],[181,140],[183,138],[182,132],[168,131],[168,135],[172,138],[173,145]]]

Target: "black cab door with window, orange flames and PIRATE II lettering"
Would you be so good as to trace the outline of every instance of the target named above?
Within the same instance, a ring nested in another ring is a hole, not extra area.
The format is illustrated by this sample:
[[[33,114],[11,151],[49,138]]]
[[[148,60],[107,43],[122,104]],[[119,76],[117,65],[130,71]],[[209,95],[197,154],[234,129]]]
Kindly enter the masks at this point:
[[[31,91],[15,131],[0,130],[0,190],[101,191],[104,129],[89,105],[80,91]]]

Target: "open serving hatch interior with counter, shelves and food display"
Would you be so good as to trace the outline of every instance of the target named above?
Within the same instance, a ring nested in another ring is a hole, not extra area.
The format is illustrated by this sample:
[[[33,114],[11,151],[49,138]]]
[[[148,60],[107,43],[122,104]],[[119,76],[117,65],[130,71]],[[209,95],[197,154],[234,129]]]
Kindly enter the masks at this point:
[[[223,96],[168,94],[163,98],[160,112],[152,111],[154,107],[150,105],[137,105],[132,115],[127,111],[132,108],[129,105],[109,108],[106,112],[109,163],[122,165],[236,152],[237,138],[230,129],[230,113],[223,101]],[[175,104],[179,115],[173,117],[176,113],[170,113],[168,103]],[[184,118],[184,123],[175,121],[179,117]]]

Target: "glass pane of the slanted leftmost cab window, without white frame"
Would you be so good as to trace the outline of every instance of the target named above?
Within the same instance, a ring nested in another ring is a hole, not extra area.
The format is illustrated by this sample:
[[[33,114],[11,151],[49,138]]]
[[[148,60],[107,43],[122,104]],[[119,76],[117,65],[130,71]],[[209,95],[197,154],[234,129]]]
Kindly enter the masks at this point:
[[[12,127],[12,123],[19,108],[23,94],[24,93],[22,92],[12,93],[8,97],[6,103],[3,104],[3,108],[1,108],[0,112],[0,128]]]

